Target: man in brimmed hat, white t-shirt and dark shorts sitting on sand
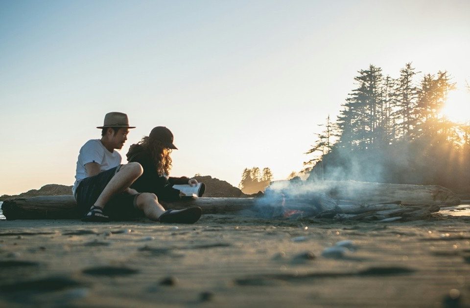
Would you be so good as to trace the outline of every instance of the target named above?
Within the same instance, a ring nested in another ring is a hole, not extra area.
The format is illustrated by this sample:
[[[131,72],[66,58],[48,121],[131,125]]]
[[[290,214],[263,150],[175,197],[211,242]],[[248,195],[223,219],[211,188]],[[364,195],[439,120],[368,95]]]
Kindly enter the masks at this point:
[[[150,220],[171,223],[194,223],[201,208],[167,210],[151,193],[138,193],[129,188],[142,175],[137,162],[121,165],[121,149],[127,140],[129,120],[125,113],[109,112],[104,117],[101,139],[89,140],[78,155],[75,183],[72,188],[83,221],[109,221],[128,218],[141,211]]]

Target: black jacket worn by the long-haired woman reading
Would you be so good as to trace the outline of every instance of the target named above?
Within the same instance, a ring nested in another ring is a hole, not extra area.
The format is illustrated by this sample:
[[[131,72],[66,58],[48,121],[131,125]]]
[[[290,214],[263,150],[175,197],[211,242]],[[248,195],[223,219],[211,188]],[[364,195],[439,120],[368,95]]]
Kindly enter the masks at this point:
[[[172,186],[188,184],[188,177],[159,175],[150,153],[139,144],[133,144],[126,156],[128,162],[138,162],[143,168],[143,174],[131,185],[131,188],[139,193],[154,193],[162,201],[174,201],[181,198],[180,191]]]

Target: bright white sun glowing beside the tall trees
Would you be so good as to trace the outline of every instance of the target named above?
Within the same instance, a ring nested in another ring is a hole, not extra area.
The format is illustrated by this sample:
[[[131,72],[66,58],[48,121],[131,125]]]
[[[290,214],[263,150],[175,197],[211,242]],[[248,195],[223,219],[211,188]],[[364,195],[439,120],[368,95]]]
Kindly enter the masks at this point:
[[[470,93],[464,89],[449,92],[441,114],[457,123],[470,121]]]

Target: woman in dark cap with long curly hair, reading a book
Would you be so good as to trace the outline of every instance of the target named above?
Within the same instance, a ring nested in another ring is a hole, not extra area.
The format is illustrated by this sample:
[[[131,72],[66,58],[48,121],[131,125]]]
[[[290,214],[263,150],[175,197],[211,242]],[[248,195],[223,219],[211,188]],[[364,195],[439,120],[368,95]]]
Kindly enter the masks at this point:
[[[175,184],[194,186],[197,180],[186,176],[169,177],[173,134],[164,126],[155,127],[141,142],[131,145],[127,161],[142,165],[143,174],[131,185],[139,193],[154,193],[159,200],[174,201],[183,195],[173,188]]]

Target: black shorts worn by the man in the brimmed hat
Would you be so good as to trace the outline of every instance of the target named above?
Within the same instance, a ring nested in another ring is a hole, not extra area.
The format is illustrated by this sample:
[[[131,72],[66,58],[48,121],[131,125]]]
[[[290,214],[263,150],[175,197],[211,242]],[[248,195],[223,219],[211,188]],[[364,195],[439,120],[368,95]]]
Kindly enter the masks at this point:
[[[118,173],[120,167],[121,165],[80,181],[75,192],[80,215],[84,216],[88,213],[106,185]],[[143,216],[143,212],[137,208],[137,196],[139,195],[121,193],[114,196],[105,204],[104,214],[113,220],[128,220]]]

